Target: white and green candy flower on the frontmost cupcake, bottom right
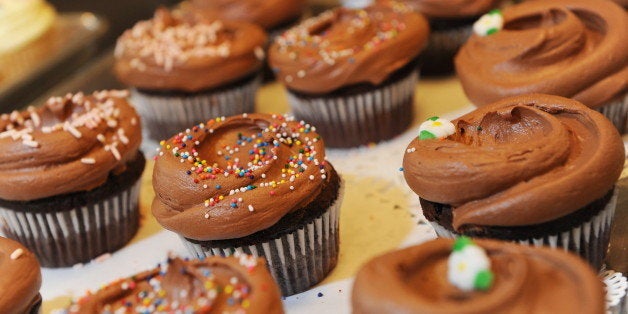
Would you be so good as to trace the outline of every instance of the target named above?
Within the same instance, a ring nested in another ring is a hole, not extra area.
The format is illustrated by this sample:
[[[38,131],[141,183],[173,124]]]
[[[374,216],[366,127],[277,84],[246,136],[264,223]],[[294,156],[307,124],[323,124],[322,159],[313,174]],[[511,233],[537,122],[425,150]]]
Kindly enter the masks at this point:
[[[447,261],[447,279],[463,291],[488,290],[493,284],[491,261],[468,237],[459,237]]]

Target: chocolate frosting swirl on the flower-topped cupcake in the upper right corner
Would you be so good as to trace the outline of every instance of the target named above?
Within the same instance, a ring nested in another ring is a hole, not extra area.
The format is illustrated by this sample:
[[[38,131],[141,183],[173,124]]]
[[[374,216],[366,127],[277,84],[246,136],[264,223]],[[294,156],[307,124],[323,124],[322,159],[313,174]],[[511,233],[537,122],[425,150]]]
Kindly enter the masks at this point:
[[[611,1],[528,1],[504,11],[504,28],[473,35],[455,58],[478,106],[546,93],[598,107],[628,89],[628,15]]]

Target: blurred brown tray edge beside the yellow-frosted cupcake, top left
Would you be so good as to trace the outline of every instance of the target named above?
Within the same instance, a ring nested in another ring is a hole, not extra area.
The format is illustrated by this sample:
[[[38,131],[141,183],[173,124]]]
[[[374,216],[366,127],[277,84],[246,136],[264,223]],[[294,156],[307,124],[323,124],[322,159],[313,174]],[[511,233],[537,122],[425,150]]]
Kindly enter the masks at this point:
[[[92,13],[63,13],[33,42],[0,55],[0,109],[17,109],[56,85],[96,51],[107,22]]]

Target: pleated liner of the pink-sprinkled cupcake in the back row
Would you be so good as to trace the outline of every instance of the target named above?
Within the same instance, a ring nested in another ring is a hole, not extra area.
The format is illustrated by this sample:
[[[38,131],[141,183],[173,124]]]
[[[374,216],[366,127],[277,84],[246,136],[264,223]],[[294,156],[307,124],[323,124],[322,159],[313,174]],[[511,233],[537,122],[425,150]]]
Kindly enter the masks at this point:
[[[148,136],[159,141],[214,117],[254,112],[260,82],[255,77],[238,87],[191,95],[157,95],[132,89],[131,103],[142,117]]]

